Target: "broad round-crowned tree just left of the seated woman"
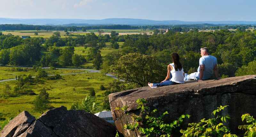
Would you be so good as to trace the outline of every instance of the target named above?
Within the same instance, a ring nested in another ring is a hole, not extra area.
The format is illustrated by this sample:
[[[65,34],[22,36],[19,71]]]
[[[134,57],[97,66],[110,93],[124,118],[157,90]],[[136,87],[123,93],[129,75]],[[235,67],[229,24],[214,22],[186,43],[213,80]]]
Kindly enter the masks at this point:
[[[140,53],[129,53],[122,56],[112,69],[117,78],[139,86],[163,80],[166,75],[164,72],[167,70],[156,58]]]

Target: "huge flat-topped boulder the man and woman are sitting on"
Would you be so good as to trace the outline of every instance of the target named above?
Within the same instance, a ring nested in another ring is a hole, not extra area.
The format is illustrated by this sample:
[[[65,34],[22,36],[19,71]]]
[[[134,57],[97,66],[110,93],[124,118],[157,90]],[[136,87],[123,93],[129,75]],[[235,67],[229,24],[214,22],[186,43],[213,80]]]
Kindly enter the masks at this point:
[[[238,125],[242,125],[241,115],[250,113],[256,116],[256,75],[232,77],[220,80],[206,80],[158,88],[141,87],[109,96],[110,108],[116,128],[124,136],[139,136],[138,132],[124,129],[124,124],[133,120],[116,107],[127,106],[131,114],[140,115],[136,100],[144,98],[150,108],[158,109],[158,113],[169,112],[166,121],[177,119],[181,114],[192,117],[188,122],[199,122],[202,118],[211,118],[212,111],[220,105],[229,105],[223,114],[230,115],[228,122],[232,133],[239,133]]]

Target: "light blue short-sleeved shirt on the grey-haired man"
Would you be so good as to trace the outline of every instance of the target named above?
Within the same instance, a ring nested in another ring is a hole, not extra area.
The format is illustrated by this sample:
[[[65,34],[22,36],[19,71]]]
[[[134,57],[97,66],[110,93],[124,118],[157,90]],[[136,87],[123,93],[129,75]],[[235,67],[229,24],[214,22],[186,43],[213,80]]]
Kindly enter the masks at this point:
[[[214,56],[203,56],[199,59],[199,67],[197,72],[200,72],[200,65],[204,65],[203,79],[210,79],[213,75],[213,68],[217,64],[217,58]]]

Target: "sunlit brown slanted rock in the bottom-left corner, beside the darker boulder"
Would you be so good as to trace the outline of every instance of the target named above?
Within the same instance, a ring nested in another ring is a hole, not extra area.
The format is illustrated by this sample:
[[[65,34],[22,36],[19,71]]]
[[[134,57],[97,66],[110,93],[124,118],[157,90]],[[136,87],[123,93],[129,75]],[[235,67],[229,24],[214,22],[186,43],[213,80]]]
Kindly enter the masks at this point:
[[[0,133],[0,136],[18,136],[23,133],[35,120],[35,117],[30,115],[27,111],[23,111],[4,127],[4,129]]]

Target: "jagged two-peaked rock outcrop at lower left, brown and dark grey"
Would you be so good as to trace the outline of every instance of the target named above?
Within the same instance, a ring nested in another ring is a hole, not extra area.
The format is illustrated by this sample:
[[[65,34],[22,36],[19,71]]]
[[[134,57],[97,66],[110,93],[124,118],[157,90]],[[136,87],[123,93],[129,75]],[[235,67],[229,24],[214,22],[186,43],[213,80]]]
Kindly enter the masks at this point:
[[[67,110],[66,107],[61,106],[45,112],[37,120],[26,111],[20,113],[3,129],[0,137],[114,137],[115,135],[116,128],[94,114],[83,110]]]

